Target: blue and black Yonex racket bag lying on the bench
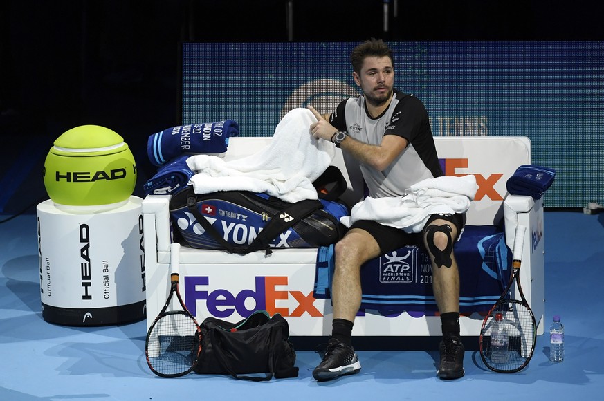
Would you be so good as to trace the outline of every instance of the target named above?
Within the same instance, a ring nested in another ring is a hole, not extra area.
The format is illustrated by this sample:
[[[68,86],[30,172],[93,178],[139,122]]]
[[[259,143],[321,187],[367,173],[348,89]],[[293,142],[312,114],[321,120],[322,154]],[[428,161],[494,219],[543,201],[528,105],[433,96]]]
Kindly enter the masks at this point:
[[[339,170],[337,173],[341,176]],[[340,217],[347,216],[349,208],[337,200],[340,184],[333,185],[333,180],[324,176],[315,183],[320,185],[320,199],[296,203],[245,191],[195,194],[190,187],[172,196],[170,215],[192,248],[236,254],[318,248],[342,238],[346,227]]]

